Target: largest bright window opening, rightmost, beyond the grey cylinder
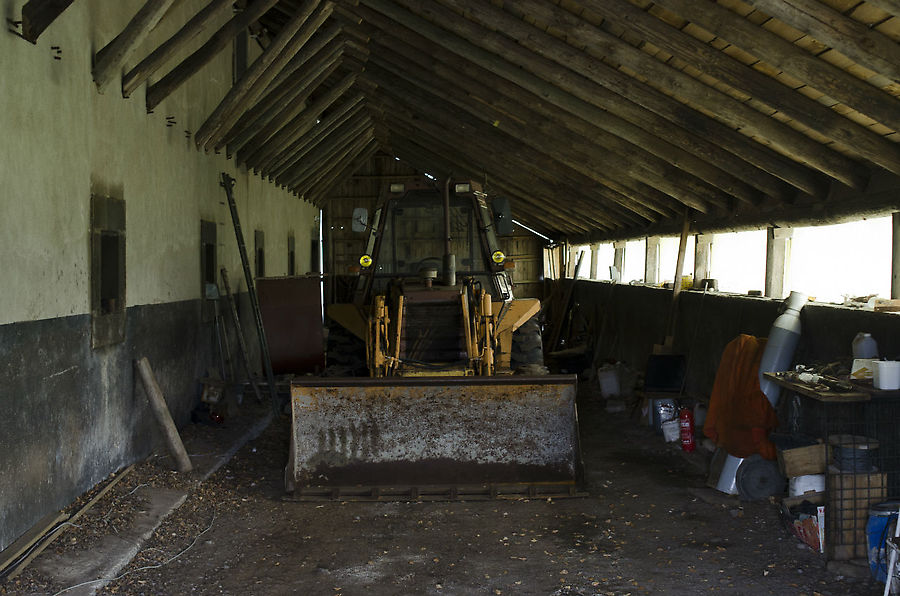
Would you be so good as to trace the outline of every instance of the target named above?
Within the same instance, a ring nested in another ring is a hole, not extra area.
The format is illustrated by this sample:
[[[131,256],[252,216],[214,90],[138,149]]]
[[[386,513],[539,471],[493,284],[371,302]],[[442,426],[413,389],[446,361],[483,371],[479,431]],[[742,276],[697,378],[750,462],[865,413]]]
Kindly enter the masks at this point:
[[[891,295],[891,217],[794,228],[785,289],[820,302]]]

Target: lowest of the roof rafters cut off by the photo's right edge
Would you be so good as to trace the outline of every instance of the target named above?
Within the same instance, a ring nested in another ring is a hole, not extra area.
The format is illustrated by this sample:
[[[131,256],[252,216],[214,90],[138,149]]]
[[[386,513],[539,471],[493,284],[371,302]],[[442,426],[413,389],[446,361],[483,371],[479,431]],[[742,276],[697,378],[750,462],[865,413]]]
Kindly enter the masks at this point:
[[[780,0],[779,0],[780,1]],[[796,93],[709,44],[673,28],[625,0],[579,0],[604,19],[631,27],[646,40],[664,48],[703,72],[780,110],[819,134],[843,143],[889,171],[900,173],[900,145],[855,124],[823,104]]]

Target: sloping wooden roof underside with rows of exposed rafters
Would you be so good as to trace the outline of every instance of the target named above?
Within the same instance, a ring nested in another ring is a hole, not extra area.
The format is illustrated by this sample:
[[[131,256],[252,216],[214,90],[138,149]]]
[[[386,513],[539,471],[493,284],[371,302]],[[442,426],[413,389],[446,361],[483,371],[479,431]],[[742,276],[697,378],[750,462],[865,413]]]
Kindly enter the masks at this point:
[[[195,140],[319,205],[376,154],[555,238],[897,201],[900,0],[246,4],[265,51]]]

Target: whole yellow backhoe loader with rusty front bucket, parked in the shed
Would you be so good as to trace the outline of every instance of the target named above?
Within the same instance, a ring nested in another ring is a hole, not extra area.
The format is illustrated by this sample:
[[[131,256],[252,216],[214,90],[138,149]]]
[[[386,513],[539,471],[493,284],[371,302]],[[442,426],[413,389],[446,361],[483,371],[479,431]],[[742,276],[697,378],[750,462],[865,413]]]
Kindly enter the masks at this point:
[[[447,179],[391,184],[371,221],[354,217],[369,233],[354,301],[327,313],[364,341],[368,378],[292,383],[288,491],[576,494],[576,381],[546,374],[540,302],[513,297],[496,234],[508,210],[495,213],[477,183]]]

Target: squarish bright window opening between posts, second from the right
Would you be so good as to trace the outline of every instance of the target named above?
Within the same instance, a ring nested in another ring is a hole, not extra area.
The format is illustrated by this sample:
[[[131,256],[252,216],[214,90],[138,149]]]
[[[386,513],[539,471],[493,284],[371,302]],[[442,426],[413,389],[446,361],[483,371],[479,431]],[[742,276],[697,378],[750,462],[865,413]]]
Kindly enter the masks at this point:
[[[766,230],[716,234],[711,252],[709,276],[720,291],[765,290]]]

